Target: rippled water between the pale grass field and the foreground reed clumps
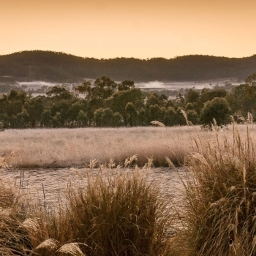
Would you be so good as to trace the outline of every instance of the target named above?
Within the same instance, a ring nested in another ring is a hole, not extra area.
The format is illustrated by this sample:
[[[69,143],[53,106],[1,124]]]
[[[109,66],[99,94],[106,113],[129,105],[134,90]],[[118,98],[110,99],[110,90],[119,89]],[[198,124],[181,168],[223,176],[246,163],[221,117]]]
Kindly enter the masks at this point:
[[[97,172],[98,170],[94,170],[93,174],[96,175]],[[81,181],[80,176],[85,180]],[[86,169],[4,169],[1,170],[1,178],[4,182],[20,188],[31,200],[41,206],[54,207],[59,200],[65,200],[65,190],[69,182],[78,186],[86,181]],[[185,171],[182,168],[176,170],[167,167],[152,168],[148,176],[148,181],[156,181],[162,195],[172,197],[177,205],[184,191],[181,179],[185,179]]]

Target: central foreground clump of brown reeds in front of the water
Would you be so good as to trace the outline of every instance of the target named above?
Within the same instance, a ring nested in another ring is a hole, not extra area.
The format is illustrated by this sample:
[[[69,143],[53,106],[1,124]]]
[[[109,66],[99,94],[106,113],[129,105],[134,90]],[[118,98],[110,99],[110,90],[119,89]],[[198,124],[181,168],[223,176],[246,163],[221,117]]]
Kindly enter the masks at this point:
[[[81,176],[79,186],[70,183],[67,206],[42,228],[54,240],[42,241],[35,251],[46,255],[48,248],[51,255],[69,242],[84,255],[167,255],[173,216],[146,172],[101,169],[97,176]]]

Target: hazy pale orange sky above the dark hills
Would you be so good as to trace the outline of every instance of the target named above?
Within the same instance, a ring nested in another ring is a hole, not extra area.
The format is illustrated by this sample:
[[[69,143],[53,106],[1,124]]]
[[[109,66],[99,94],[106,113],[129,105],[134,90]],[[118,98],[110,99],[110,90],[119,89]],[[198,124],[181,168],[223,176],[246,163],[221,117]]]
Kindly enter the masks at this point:
[[[0,55],[256,54],[256,0],[0,0]]]

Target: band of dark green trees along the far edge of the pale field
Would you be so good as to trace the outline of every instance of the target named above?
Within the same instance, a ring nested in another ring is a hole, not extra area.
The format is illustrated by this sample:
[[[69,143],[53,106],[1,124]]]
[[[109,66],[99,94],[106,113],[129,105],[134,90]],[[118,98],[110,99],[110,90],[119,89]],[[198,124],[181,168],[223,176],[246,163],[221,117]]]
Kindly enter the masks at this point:
[[[142,91],[131,80],[116,83],[105,76],[94,83],[86,80],[75,92],[53,86],[46,95],[37,97],[15,89],[0,96],[2,129],[135,127],[148,126],[154,120],[166,126],[189,121],[211,127],[213,118],[223,127],[230,123],[231,115],[242,121],[248,113],[256,117],[256,72],[230,91],[218,86],[201,91],[189,89],[174,99]]]

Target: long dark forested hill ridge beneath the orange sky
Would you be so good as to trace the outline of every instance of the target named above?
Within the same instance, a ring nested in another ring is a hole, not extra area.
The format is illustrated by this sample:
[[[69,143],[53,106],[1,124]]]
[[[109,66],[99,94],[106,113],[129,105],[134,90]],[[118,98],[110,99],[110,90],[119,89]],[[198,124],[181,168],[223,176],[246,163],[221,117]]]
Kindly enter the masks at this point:
[[[256,71],[256,55],[246,58],[178,56],[174,59],[94,59],[42,50],[0,56],[0,81],[45,80],[80,82],[102,75],[113,80],[199,81],[221,78],[244,80]]]

